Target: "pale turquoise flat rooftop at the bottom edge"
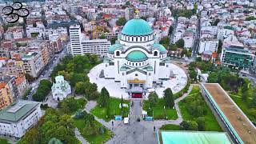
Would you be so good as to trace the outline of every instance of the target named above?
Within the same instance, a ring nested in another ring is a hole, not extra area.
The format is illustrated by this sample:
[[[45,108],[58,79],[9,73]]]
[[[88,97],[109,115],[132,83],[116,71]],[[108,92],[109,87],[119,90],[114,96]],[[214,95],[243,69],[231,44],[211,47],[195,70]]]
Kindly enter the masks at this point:
[[[160,144],[231,144],[229,136],[223,132],[211,131],[160,131],[158,134]]]

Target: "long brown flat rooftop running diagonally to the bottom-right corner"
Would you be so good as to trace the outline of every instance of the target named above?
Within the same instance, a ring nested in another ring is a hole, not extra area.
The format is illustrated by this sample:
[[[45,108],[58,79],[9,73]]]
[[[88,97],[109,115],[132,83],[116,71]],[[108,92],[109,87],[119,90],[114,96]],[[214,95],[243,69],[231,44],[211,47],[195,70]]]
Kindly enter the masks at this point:
[[[244,143],[256,143],[256,128],[218,83],[202,84]]]

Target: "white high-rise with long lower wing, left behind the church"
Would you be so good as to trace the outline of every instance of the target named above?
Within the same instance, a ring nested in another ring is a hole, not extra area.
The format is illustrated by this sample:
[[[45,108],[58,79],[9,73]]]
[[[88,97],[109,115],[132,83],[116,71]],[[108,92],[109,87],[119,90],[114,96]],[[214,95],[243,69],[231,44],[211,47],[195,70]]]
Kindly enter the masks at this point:
[[[106,55],[111,43],[106,39],[85,40],[82,38],[80,26],[70,26],[70,44],[68,52],[73,55],[97,54]]]

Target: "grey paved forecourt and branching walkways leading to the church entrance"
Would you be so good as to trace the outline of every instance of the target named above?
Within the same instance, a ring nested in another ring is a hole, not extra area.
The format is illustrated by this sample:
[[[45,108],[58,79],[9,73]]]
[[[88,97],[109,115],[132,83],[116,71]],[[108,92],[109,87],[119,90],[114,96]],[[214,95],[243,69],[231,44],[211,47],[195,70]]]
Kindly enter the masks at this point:
[[[102,123],[103,126],[106,126],[109,130],[114,133],[114,137],[111,138],[108,142],[109,144],[114,143],[129,143],[137,144],[154,144],[157,143],[157,137],[154,132],[154,126],[158,130],[162,125],[173,124],[179,125],[182,122],[182,114],[178,107],[178,102],[186,98],[190,91],[192,90],[193,85],[190,85],[189,90],[186,94],[183,94],[182,97],[174,101],[174,107],[177,110],[178,118],[176,120],[157,120],[154,122],[146,122],[142,120],[142,106],[139,99],[133,99],[134,105],[130,109],[130,123],[124,124],[122,121],[114,121],[114,126],[112,126],[112,121],[106,122],[103,119],[94,117],[96,121]],[[87,113],[90,113],[90,110],[94,109],[97,105],[97,102],[89,101],[87,102],[85,109]],[[137,119],[140,118],[141,121],[138,122]],[[77,136],[77,134],[76,134]],[[79,136],[79,134],[78,134]],[[77,137],[79,139],[79,137]],[[86,142],[86,140],[79,139],[80,142]]]

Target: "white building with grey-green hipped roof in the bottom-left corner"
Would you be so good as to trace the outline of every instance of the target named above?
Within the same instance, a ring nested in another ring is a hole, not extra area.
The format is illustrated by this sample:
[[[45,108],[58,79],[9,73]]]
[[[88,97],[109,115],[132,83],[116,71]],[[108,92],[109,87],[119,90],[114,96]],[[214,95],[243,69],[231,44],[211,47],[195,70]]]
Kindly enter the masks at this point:
[[[0,134],[22,138],[42,117],[41,103],[18,100],[0,111]]]

